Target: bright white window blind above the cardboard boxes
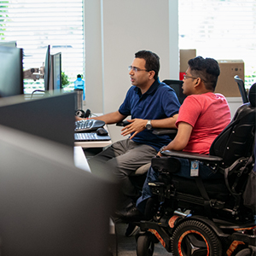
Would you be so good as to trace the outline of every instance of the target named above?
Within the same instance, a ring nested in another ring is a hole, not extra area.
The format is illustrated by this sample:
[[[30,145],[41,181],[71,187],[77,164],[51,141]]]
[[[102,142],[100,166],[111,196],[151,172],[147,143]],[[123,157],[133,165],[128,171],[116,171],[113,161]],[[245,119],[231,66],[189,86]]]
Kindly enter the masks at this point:
[[[217,60],[243,60],[256,83],[256,0],[179,0],[179,48]]]

